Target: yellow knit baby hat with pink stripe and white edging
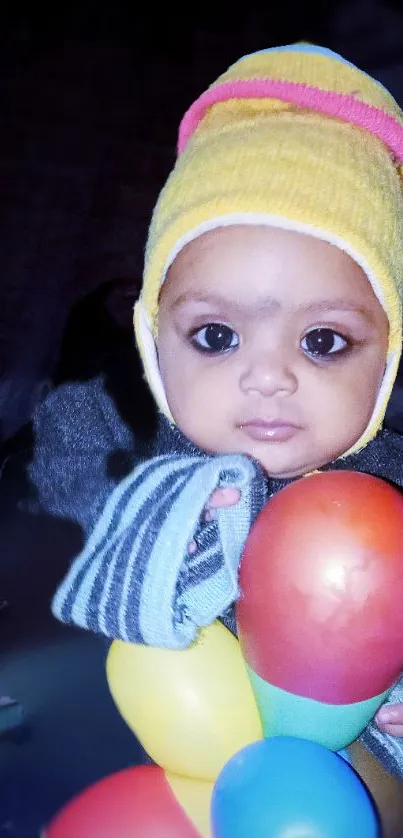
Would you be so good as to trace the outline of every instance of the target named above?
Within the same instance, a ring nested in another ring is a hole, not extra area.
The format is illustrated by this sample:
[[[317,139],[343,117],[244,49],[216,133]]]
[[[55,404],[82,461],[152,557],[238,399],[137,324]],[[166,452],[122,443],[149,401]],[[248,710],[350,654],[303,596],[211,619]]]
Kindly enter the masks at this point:
[[[158,299],[179,251],[207,230],[259,224],[330,242],[365,271],[389,320],[387,365],[368,427],[379,430],[399,363],[403,297],[403,113],[340,56],[300,44],[246,56],[185,115],[154,210],[136,339],[159,408]]]

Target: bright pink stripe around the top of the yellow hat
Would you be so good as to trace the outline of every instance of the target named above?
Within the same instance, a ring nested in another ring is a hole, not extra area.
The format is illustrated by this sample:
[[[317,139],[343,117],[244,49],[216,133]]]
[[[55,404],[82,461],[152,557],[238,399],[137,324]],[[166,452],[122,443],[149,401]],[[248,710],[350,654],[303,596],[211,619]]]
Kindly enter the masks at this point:
[[[202,93],[186,111],[179,128],[178,154],[187,145],[208,108],[229,99],[279,99],[325,116],[341,119],[373,134],[389,148],[396,165],[403,163],[403,125],[380,108],[361,102],[350,93],[321,90],[303,82],[244,79],[224,82]]]

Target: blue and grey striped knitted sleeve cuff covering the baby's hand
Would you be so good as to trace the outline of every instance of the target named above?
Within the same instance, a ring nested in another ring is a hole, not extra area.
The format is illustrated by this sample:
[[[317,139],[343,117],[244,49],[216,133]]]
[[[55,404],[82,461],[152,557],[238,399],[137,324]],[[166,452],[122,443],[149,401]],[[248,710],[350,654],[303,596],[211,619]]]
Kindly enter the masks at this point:
[[[169,448],[169,423],[165,437]],[[111,493],[53,599],[58,619],[180,649],[238,598],[242,550],[267,500],[263,472],[242,454],[208,456],[184,437],[175,441],[176,454],[138,466]],[[241,498],[205,521],[204,508],[222,486],[240,489]]]

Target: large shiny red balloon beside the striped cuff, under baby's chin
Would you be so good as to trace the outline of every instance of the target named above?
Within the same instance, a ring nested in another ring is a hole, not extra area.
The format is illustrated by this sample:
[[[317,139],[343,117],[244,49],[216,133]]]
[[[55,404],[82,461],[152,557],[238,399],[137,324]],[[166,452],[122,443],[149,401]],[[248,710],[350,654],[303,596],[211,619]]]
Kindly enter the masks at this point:
[[[261,678],[330,704],[379,695],[403,668],[403,495],[350,471],[290,484],[250,532],[240,587]]]

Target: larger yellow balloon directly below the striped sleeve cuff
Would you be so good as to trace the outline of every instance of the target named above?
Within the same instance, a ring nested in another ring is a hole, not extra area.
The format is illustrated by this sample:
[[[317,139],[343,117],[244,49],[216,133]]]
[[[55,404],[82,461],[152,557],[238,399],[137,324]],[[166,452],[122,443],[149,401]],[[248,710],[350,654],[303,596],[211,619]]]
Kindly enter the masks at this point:
[[[262,738],[239,643],[219,622],[181,651],[115,640],[106,671],[119,712],[166,771],[214,782]]]

